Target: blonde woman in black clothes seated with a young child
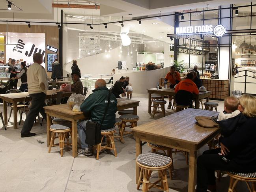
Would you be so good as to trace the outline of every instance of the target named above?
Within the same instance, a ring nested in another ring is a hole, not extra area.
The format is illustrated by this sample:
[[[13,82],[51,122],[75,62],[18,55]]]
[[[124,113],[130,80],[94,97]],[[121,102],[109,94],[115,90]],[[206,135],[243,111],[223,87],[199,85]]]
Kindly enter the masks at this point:
[[[216,191],[215,170],[256,172],[256,97],[242,95],[238,110],[245,118],[241,118],[235,132],[219,138],[220,149],[204,151],[198,157],[196,192]]]

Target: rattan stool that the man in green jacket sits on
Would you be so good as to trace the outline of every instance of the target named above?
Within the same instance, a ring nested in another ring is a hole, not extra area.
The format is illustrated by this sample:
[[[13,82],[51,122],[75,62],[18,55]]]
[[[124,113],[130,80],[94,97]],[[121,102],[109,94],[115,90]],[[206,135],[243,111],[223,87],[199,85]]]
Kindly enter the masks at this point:
[[[101,130],[101,143],[103,141],[103,138],[107,138],[107,145],[102,146],[101,143],[97,144],[97,155],[96,159],[99,159],[99,152],[101,152],[103,149],[110,149],[114,150],[115,157],[117,157],[116,153],[116,146],[114,142],[114,133],[116,132],[116,127],[113,127],[111,129],[105,129]]]

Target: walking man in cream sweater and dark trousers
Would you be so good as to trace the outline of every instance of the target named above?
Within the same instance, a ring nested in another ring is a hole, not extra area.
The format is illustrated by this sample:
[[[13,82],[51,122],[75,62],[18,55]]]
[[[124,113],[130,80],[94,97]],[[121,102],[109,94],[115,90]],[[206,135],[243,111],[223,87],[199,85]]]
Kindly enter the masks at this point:
[[[47,74],[45,68],[41,66],[43,63],[43,55],[36,53],[33,55],[34,63],[30,65],[27,71],[28,77],[28,94],[31,98],[31,107],[27,114],[26,120],[21,130],[21,137],[35,136],[36,133],[31,133],[35,117],[40,112],[44,119],[46,119],[45,105],[46,91],[48,89]]]

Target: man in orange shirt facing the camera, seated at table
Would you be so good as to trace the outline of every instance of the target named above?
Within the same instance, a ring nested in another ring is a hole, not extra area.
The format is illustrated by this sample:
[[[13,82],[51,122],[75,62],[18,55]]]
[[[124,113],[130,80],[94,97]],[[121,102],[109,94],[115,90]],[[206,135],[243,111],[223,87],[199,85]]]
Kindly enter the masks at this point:
[[[164,79],[164,84],[167,83],[169,80],[170,82],[170,88],[174,88],[176,84],[178,84],[181,81],[180,74],[178,71],[176,71],[176,68],[174,66],[171,66],[170,72],[167,73]],[[169,104],[168,104],[168,109],[170,109],[172,106],[172,96],[169,96]]]

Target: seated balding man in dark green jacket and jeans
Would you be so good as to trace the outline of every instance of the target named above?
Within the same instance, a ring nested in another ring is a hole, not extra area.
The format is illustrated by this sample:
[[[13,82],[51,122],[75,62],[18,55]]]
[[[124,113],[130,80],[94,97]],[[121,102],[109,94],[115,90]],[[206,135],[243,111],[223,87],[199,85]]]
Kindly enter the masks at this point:
[[[89,121],[101,123],[105,109],[108,104],[108,88],[106,87],[106,82],[103,79],[98,79],[95,82],[95,89],[89,97],[84,100],[81,104],[80,109],[84,113],[90,113]],[[110,129],[114,127],[116,123],[116,111],[117,111],[117,100],[115,95],[110,93],[110,103],[108,106],[107,114],[101,125],[101,129]],[[79,155],[92,155],[92,150],[88,148],[86,144],[86,123],[88,120],[81,121],[77,125],[77,132],[81,141],[81,149],[78,150]]]

